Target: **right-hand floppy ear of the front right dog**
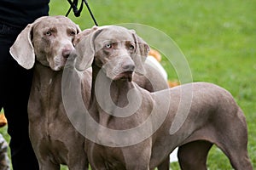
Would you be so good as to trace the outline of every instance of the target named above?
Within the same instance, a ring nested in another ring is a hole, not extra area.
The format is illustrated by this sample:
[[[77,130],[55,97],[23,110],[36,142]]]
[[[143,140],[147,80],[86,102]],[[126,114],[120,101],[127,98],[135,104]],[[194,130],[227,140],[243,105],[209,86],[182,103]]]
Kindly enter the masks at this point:
[[[135,42],[137,46],[136,54],[133,58],[135,63],[135,72],[143,75],[146,73],[143,64],[148,56],[149,46],[146,42],[143,41],[141,37],[137,36],[135,31],[132,33],[132,35],[135,38]]]

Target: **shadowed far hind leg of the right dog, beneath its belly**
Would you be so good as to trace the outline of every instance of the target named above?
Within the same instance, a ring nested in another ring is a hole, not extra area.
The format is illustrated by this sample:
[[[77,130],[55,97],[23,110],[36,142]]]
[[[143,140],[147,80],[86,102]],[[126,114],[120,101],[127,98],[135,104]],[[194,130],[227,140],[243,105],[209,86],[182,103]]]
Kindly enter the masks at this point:
[[[181,169],[207,169],[207,154],[212,143],[198,140],[183,144],[178,148],[177,156]]]

